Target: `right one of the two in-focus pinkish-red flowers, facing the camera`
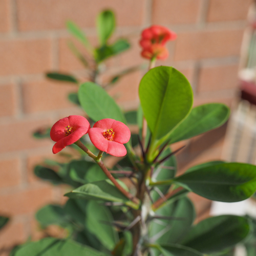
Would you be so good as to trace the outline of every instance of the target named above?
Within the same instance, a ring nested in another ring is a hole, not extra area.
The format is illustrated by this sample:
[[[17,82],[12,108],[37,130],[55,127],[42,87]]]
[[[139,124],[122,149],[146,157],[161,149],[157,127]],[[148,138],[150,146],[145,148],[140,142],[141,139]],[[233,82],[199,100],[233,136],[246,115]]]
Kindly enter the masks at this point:
[[[123,143],[130,140],[131,132],[124,123],[110,118],[102,119],[93,125],[88,134],[98,150],[116,157],[126,155]]]

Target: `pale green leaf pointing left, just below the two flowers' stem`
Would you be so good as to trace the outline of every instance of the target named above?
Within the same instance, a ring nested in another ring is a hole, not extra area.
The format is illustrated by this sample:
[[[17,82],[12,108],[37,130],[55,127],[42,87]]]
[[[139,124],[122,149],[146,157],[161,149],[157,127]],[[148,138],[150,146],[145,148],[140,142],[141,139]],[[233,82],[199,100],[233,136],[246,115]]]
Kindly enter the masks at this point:
[[[104,200],[121,202],[128,206],[137,208],[135,204],[127,199],[110,180],[95,181],[80,186],[65,196],[69,198],[81,198],[87,200]]]

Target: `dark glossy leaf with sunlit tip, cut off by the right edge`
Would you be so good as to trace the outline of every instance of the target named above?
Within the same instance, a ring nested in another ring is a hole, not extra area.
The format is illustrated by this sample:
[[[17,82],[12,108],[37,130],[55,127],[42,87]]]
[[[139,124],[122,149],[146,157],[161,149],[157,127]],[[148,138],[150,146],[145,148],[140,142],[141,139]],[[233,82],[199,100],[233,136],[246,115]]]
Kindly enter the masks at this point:
[[[210,200],[238,202],[256,190],[256,166],[245,163],[222,163],[185,173],[174,182]]]

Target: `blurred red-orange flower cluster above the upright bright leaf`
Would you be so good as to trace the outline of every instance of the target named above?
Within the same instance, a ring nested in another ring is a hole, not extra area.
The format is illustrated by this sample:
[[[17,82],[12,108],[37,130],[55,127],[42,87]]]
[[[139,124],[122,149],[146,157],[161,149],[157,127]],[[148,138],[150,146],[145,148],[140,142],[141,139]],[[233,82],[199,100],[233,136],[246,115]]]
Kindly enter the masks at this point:
[[[144,29],[141,33],[140,45],[142,46],[141,55],[144,58],[165,59],[168,57],[168,51],[165,44],[169,40],[175,40],[177,35],[175,32],[168,30],[162,26],[151,26]]]

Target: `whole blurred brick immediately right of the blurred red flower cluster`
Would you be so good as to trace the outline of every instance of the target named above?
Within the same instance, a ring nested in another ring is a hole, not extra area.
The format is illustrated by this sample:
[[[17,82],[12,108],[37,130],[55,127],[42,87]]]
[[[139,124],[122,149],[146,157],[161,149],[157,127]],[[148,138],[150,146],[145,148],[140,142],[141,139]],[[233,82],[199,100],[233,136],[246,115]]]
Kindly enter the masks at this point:
[[[195,31],[178,34],[175,60],[238,56],[243,30]]]

